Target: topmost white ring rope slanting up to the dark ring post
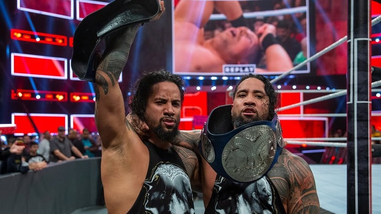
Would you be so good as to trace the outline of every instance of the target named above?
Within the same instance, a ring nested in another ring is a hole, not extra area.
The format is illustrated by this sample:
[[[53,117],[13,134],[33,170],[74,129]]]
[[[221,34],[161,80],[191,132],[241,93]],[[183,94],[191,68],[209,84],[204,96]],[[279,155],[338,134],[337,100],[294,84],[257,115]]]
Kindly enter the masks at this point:
[[[377,18],[375,18],[374,20],[372,20],[372,26],[379,23],[381,21],[381,16],[378,16]],[[321,55],[327,53],[328,51],[334,49],[335,47],[339,46],[340,44],[344,43],[345,41],[347,41],[347,36],[339,39],[337,42],[329,45],[328,47],[322,49],[321,51],[319,51],[318,53],[316,53],[314,56],[308,58],[307,60],[303,61],[302,63],[296,65],[295,67],[291,68],[290,70],[284,72],[283,74],[277,76],[275,79],[271,80],[270,83],[275,83],[276,81],[282,79],[283,77],[289,75],[291,72],[293,72],[294,70],[297,70],[301,67],[303,67],[305,64],[311,62],[311,61],[314,61],[316,60],[317,58],[319,58]],[[346,91],[345,91],[346,93]]]

